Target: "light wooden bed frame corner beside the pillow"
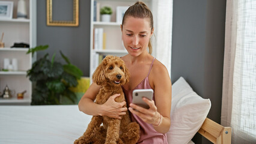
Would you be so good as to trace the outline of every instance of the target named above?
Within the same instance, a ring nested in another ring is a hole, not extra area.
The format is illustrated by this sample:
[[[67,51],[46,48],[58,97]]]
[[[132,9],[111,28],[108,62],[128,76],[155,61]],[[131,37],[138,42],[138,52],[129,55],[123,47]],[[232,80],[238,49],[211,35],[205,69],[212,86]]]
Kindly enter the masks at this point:
[[[210,140],[212,143],[231,143],[231,127],[223,127],[209,118],[206,118],[200,130],[198,130],[198,133],[206,137],[206,139]]]

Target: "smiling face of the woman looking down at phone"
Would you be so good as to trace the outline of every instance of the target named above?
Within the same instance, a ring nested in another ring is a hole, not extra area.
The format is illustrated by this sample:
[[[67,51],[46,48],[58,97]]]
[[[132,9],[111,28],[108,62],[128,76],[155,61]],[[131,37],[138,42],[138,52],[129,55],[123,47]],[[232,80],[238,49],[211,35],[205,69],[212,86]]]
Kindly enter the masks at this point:
[[[147,52],[150,37],[153,34],[150,19],[140,19],[132,16],[126,17],[123,24],[122,39],[124,47],[132,56]]]

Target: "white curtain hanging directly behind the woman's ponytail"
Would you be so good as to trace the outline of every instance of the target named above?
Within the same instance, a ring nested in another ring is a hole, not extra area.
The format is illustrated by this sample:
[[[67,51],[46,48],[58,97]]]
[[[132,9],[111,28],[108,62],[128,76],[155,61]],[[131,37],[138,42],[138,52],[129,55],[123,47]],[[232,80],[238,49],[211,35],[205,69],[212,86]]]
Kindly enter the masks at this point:
[[[172,0],[154,0],[153,9],[156,29],[153,55],[165,65],[171,76]]]

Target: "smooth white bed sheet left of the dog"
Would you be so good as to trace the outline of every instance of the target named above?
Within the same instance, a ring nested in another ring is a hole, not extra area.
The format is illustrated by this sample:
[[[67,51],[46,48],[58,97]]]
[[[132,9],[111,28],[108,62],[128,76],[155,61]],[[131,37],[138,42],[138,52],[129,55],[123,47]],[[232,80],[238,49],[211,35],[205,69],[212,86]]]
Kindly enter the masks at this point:
[[[0,106],[0,143],[73,143],[90,121],[77,105]]]

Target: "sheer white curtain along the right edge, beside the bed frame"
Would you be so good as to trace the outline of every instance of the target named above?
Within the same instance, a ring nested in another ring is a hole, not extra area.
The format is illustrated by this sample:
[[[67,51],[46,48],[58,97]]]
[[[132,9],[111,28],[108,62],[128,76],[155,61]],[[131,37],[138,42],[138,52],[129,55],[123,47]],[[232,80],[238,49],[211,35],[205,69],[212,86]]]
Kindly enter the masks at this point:
[[[221,124],[256,143],[256,1],[227,0]]]

